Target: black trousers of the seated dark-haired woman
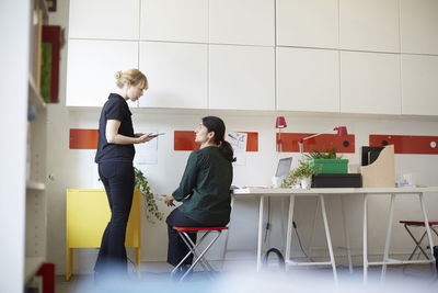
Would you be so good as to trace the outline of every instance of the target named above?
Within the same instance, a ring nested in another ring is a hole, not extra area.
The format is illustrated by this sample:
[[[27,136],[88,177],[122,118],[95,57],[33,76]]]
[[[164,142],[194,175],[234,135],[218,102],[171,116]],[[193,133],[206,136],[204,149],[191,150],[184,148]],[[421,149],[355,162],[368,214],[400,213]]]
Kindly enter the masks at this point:
[[[178,233],[173,229],[173,226],[181,227],[208,227],[203,223],[198,223],[189,217],[186,217],[178,209],[172,211],[172,213],[165,219],[168,223],[169,234],[169,247],[168,247],[168,262],[173,267],[176,267],[181,260],[191,251],[181,238]],[[196,244],[196,233],[188,234],[192,241]],[[192,264],[193,255],[191,255],[185,261],[185,264]]]

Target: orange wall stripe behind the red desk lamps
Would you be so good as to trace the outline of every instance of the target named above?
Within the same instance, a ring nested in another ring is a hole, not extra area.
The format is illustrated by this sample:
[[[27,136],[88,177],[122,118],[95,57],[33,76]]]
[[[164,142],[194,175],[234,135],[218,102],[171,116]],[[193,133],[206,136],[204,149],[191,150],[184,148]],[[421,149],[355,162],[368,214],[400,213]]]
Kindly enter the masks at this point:
[[[314,133],[281,133],[281,151],[299,153],[300,147],[298,140],[311,135],[314,135]],[[316,149],[318,151],[328,151],[333,147],[336,149],[336,153],[354,154],[355,135],[348,134],[347,136],[337,136],[336,134],[322,134],[304,140],[303,151],[309,153],[313,149]]]

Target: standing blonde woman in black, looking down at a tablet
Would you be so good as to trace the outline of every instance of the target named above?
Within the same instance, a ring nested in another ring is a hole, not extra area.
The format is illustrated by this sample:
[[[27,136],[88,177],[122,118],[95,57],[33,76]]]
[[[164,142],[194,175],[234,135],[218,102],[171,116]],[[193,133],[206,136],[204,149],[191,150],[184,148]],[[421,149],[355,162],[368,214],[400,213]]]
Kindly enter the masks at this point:
[[[105,102],[99,122],[99,143],[95,162],[105,187],[111,209],[111,221],[102,237],[101,248],[94,267],[95,277],[110,270],[127,273],[125,248],[134,194],[134,144],[149,142],[149,134],[134,134],[131,112],[127,100],[137,101],[148,89],[148,79],[138,69],[115,74],[117,90]]]

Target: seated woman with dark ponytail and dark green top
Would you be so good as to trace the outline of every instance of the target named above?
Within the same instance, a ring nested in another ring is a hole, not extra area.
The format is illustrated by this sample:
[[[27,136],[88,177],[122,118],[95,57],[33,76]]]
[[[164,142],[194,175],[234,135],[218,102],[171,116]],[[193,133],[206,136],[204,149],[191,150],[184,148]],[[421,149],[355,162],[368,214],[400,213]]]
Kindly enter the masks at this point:
[[[233,149],[224,140],[226,125],[216,116],[203,119],[195,131],[200,149],[194,150],[187,160],[180,187],[164,200],[168,206],[173,201],[183,202],[168,216],[168,262],[176,267],[188,253],[188,248],[172,226],[214,227],[230,222]],[[196,233],[191,234],[196,243]],[[186,259],[189,267],[193,256]]]

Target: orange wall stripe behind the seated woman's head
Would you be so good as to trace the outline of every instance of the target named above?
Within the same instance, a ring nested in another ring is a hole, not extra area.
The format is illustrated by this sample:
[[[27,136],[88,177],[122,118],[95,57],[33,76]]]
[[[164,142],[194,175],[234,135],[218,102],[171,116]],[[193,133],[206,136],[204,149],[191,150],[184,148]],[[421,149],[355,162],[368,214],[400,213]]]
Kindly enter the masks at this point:
[[[242,132],[247,134],[246,151],[258,151],[258,133]],[[199,149],[200,144],[195,143],[196,134],[194,131],[175,131],[173,133],[174,150],[195,150]]]

